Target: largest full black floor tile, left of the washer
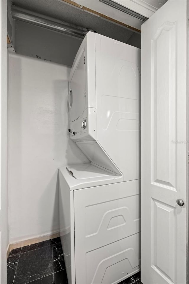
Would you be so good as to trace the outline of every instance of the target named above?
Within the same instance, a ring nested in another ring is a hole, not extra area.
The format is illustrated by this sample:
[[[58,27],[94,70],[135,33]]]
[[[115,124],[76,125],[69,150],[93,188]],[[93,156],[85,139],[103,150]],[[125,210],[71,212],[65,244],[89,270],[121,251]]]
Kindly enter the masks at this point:
[[[25,284],[52,273],[52,246],[45,246],[20,254],[14,284]]]

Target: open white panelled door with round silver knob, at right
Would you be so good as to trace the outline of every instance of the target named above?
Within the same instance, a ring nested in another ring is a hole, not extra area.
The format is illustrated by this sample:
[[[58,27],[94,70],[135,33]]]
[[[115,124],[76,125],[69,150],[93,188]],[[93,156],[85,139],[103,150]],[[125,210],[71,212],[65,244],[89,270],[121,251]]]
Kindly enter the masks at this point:
[[[169,0],[142,25],[143,284],[188,283],[187,27],[186,0]]]

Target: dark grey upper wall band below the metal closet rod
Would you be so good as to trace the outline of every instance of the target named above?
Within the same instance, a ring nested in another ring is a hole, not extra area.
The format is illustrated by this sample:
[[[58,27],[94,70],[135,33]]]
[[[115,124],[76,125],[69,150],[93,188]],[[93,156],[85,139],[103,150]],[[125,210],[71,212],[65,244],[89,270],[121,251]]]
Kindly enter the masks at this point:
[[[82,38],[74,38],[22,21],[16,21],[17,54],[72,66]],[[55,44],[58,43],[58,44]]]

